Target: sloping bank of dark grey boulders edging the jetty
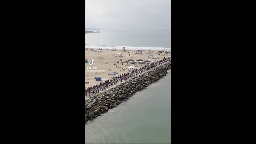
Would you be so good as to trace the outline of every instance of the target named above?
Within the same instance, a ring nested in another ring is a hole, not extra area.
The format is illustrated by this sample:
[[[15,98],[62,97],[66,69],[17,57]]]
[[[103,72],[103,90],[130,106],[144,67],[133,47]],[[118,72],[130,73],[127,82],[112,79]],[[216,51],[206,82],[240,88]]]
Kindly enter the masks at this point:
[[[171,62],[85,100],[85,123],[118,106],[134,93],[142,91],[150,84],[159,81],[167,75],[169,69],[171,69]]]

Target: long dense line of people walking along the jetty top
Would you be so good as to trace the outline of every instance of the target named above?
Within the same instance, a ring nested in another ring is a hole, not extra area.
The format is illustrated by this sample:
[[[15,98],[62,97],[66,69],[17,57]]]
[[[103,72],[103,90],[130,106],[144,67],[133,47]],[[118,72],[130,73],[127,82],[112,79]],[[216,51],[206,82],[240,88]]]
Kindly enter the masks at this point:
[[[119,83],[122,83],[126,81],[127,79],[136,77],[142,73],[145,73],[146,71],[149,71],[151,69],[154,69],[156,67],[159,67],[163,65],[166,62],[170,62],[171,58],[163,58],[163,60],[155,61],[153,63],[150,63],[149,65],[146,65],[139,69],[133,69],[130,72],[127,72],[125,74],[119,75],[117,77],[113,77],[111,79],[107,79],[105,82],[100,82],[97,85],[87,87],[85,88],[85,97],[92,97],[95,94],[98,94],[102,91],[107,90],[109,87],[112,87],[114,85],[117,85]]]

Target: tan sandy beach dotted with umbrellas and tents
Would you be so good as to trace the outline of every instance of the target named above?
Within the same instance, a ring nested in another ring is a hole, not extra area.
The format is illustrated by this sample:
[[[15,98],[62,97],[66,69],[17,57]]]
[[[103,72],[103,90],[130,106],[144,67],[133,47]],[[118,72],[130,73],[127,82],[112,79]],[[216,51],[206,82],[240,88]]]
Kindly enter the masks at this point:
[[[145,65],[138,64],[139,61],[137,60],[139,59],[142,59],[143,61],[148,60],[150,62],[154,62],[157,60],[161,60],[164,57],[165,58],[171,57],[171,54],[166,54],[166,53],[157,54],[158,51],[153,49],[152,51],[143,50],[141,54],[137,54],[135,53],[136,50],[134,49],[133,50],[125,49],[126,51],[123,51],[120,49],[116,51],[111,51],[111,49],[102,49],[100,50],[100,52],[94,52],[91,50],[92,48],[90,49],[88,48],[86,50],[86,47],[89,47],[89,46],[85,46],[85,59],[87,59],[89,62],[92,61],[93,59],[94,62],[92,66],[89,65],[89,63],[85,63],[85,82],[89,82],[88,84],[85,84],[85,88],[93,85],[97,85],[98,83],[100,83],[95,81],[95,77],[101,77],[102,81],[105,81],[106,79],[110,79],[113,77],[113,75],[109,75],[109,73],[112,73],[113,71],[116,71],[118,74],[115,76],[118,76],[118,75],[122,75],[124,73],[129,72],[128,67],[130,66],[134,66],[135,69],[145,66]],[[94,50],[98,50],[98,49],[99,47],[94,48]],[[121,53],[122,57],[119,57],[118,53]],[[149,58],[150,54],[154,55],[154,57]],[[123,63],[122,65],[121,59],[122,61],[133,59],[135,62],[137,62],[137,64],[133,65],[130,63],[128,64]],[[114,63],[116,65],[114,65]]]

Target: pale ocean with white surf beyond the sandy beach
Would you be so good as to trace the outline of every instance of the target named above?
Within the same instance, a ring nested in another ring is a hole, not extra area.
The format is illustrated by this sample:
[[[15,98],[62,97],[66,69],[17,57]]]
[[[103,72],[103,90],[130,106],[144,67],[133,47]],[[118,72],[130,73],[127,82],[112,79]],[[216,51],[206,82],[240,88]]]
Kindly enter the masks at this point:
[[[171,30],[101,30],[85,34],[85,44],[171,48]]]

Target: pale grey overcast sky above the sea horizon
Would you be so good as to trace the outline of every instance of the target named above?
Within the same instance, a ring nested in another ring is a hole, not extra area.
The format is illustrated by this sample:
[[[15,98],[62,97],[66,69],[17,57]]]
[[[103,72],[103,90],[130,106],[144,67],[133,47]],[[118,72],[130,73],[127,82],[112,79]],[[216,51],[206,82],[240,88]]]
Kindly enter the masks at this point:
[[[85,26],[170,29],[171,0],[85,0]]]

